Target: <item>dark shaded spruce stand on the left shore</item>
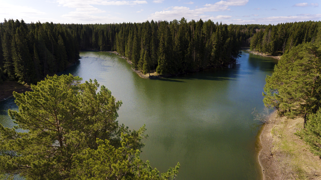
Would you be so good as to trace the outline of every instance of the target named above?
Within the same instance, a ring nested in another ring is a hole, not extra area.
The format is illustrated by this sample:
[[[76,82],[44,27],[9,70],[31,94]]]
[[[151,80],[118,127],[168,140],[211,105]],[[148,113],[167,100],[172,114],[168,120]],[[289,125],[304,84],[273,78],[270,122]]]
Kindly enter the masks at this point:
[[[35,84],[79,58],[78,40],[61,24],[4,20],[0,26],[3,80]]]

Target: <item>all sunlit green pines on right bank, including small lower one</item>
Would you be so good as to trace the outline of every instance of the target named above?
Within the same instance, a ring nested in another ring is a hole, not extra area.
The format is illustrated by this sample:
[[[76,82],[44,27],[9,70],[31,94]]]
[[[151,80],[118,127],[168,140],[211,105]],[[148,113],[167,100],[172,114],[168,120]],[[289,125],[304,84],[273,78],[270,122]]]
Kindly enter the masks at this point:
[[[282,55],[263,93],[267,107],[289,117],[303,116],[303,129],[295,134],[321,158],[321,42],[303,43]]]

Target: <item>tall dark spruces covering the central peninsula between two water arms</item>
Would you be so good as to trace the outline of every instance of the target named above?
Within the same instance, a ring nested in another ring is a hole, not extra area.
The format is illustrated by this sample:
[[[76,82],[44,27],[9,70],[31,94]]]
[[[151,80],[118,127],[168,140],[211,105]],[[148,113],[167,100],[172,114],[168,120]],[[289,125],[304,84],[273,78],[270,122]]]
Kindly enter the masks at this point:
[[[241,32],[202,19],[121,24],[71,24],[80,49],[117,51],[144,74],[177,74],[230,63],[240,56]]]

